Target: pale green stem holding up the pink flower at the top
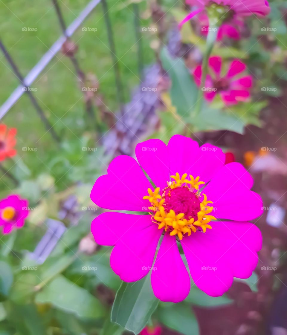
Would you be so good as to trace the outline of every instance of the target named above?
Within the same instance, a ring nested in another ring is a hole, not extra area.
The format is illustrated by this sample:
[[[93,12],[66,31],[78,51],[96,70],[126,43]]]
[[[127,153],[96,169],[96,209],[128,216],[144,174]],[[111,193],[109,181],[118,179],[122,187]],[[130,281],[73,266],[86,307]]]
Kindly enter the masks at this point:
[[[210,26],[207,39],[206,39],[206,50],[203,55],[203,60],[202,60],[202,76],[201,76],[201,84],[198,89],[197,93],[197,99],[196,99],[196,105],[195,105],[195,113],[194,116],[197,116],[201,109],[202,109],[202,103],[203,103],[203,87],[206,82],[206,76],[207,76],[207,70],[208,70],[208,60],[211,55],[211,52],[213,50],[216,37],[217,37],[217,32],[218,28],[217,26]]]

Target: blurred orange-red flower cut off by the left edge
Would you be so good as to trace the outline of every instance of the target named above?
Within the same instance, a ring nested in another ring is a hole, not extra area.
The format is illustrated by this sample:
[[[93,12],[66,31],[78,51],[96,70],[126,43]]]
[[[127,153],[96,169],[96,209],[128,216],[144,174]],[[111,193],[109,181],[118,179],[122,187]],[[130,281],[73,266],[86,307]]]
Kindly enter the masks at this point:
[[[16,155],[17,151],[14,149],[16,133],[16,128],[9,129],[6,125],[0,124],[0,161]]]

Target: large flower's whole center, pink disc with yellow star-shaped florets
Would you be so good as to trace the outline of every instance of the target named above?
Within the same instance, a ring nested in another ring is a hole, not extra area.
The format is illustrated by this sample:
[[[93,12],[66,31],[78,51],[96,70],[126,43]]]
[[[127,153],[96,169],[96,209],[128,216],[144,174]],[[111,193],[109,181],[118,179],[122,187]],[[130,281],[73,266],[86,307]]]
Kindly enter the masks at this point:
[[[171,236],[178,236],[182,240],[184,234],[188,236],[197,230],[206,232],[211,229],[211,220],[216,220],[213,215],[213,207],[209,206],[212,201],[207,200],[203,193],[200,199],[199,186],[204,182],[199,177],[194,178],[187,174],[182,177],[178,173],[171,176],[173,181],[167,182],[167,187],[160,190],[157,187],[154,191],[148,189],[149,195],[143,197],[151,203],[149,209],[152,211],[152,220],[158,224],[158,228],[164,228]],[[195,192],[196,191],[196,192]]]

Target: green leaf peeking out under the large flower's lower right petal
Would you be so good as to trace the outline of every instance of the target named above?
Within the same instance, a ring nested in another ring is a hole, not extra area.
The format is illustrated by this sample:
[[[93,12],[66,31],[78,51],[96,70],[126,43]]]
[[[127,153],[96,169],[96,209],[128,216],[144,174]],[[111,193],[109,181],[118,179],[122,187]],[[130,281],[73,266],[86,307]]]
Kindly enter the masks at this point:
[[[233,302],[233,300],[229,299],[226,295],[219,297],[209,296],[194,284],[191,286],[190,292],[184,301],[200,307],[226,306]]]

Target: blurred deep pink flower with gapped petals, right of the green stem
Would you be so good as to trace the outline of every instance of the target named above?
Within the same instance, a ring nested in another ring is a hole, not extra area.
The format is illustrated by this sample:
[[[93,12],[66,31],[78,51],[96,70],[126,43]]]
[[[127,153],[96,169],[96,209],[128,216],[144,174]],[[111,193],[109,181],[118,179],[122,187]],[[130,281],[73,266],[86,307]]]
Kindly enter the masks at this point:
[[[209,59],[210,74],[206,76],[206,82],[202,88],[206,100],[212,102],[215,95],[219,94],[225,105],[234,105],[239,101],[246,101],[250,97],[252,77],[250,75],[239,76],[246,69],[246,65],[239,60],[234,60],[227,73],[221,75],[221,63],[221,57],[215,56]],[[200,87],[201,65],[195,68],[193,76],[196,85]]]

